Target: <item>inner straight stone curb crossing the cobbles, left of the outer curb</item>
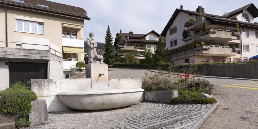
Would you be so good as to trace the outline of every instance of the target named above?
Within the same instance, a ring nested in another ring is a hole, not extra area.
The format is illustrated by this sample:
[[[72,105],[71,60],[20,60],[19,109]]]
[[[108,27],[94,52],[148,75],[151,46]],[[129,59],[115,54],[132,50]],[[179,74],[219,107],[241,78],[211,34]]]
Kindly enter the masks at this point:
[[[168,126],[170,124],[176,123],[178,121],[190,118],[190,117],[192,117],[196,114],[199,114],[199,113],[207,111],[207,110],[208,109],[201,110],[201,111],[198,111],[198,112],[193,112],[193,113],[190,113],[190,114],[187,114],[187,115],[179,116],[179,117],[176,117],[176,118],[173,118],[173,119],[169,119],[169,120],[165,120],[165,121],[158,122],[158,123],[155,123],[155,124],[151,124],[151,125],[148,125],[148,126],[144,126],[144,127],[139,128],[139,129],[158,129],[158,128],[162,128],[162,127]]]

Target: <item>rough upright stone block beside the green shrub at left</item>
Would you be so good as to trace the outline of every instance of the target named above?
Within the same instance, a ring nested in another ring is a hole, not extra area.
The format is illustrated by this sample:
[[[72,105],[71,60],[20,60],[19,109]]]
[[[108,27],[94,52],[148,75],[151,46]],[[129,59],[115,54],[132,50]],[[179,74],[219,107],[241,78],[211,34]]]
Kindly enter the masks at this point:
[[[37,99],[31,102],[32,109],[29,114],[30,126],[47,124],[48,123],[48,109],[45,99]]]

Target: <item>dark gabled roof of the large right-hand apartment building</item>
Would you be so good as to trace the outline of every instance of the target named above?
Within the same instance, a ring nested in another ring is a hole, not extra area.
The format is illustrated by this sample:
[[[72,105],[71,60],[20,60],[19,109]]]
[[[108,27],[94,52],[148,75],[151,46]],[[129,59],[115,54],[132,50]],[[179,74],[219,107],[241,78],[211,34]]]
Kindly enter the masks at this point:
[[[254,18],[258,17],[258,9],[255,7],[255,5],[253,5],[253,3],[230,12],[229,17],[230,17],[230,15],[232,16],[232,15],[241,13],[245,9],[247,9],[253,15]],[[202,13],[199,13],[199,12],[196,12],[196,11],[190,11],[190,10],[185,10],[185,9],[176,9],[175,12],[173,13],[173,15],[171,16],[171,18],[169,19],[169,21],[167,22],[167,25],[165,26],[165,28],[161,32],[161,36],[166,36],[167,30],[173,24],[173,21],[175,20],[175,18],[177,17],[179,12],[185,12],[185,13],[192,14],[192,15],[203,16],[203,17],[206,17],[206,18],[209,18],[209,19],[217,19],[217,20],[219,19],[221,21],[231,21],[231,22],[234,22],[234,23],[239,23],[239,24],[244,24],[244,25],[248,24],[248,25],[257,26],[256,23],[253,24],[253,23],[247,23],[247,22],[243,22],[243,21],[235,21],[235,20],[231,20],[231,19],[225,19],[223,16],[220,16],[220,15],[214,15],[214,14],[209,14],[209,13],[202,14]]]

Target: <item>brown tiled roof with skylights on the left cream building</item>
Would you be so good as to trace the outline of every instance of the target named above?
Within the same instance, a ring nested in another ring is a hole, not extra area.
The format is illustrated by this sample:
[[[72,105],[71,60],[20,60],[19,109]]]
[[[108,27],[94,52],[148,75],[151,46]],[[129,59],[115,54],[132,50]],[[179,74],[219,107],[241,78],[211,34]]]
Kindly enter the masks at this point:
[[[51,13],[58,13],[62,15],[69,15],[73,17],[79,17],[83,19],[90,19],[86,14],[85,11],[81,7],[75,7],[71,5],[65,5],[61,3],[56,3],[52,1],[46,0],[24,0],[25,3],[14,2],[11,0],[0,0],[0,3],[6,3],[6,5],[12,5],[17,7],[24,7],[28,9],[35,9],[40,11],[46,11]],[[49,8],[46,7],[39,7],[38,4],[47,5]]]

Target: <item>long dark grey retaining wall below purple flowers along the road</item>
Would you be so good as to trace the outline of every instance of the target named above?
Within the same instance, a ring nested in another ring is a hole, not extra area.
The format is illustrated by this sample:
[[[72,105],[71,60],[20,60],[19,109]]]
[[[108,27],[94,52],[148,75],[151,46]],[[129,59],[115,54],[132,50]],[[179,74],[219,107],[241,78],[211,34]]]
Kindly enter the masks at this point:
[[[175,73],[183,73],[189,66],[172,67]],[[198,65],[198,72],[204,76],[258,79],[258,63]]]

